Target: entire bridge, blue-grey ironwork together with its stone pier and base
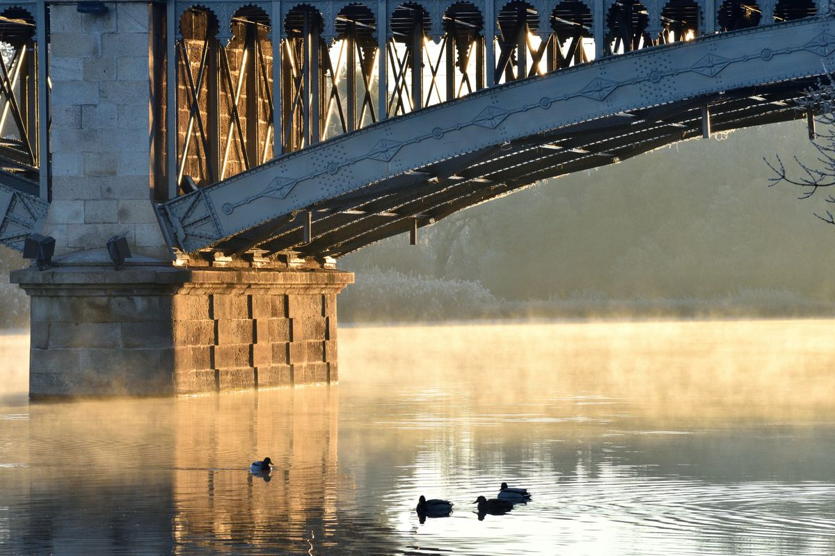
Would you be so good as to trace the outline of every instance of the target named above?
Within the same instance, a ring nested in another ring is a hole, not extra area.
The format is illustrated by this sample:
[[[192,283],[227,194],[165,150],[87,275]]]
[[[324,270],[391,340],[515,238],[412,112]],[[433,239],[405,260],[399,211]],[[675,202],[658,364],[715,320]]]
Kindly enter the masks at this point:
[[[0,2],[0,242],[43,232],[60,256],[13,275],[30,392],[334,382],[334,258],[682,139],[812,133],[798,100],[835,53],[828,11]],[[146,257],[124,270],[102,249],[119,234]]]

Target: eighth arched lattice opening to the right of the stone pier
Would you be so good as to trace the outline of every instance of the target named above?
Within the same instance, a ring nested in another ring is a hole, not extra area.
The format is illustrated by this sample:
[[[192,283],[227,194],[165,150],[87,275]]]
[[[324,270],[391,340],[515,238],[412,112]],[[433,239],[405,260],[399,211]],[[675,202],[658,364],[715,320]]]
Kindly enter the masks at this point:
[[[548,71],[589,62],[595,57],[591,11],[580,0],[564,0],[551,12],[554,35],[549,45]]]

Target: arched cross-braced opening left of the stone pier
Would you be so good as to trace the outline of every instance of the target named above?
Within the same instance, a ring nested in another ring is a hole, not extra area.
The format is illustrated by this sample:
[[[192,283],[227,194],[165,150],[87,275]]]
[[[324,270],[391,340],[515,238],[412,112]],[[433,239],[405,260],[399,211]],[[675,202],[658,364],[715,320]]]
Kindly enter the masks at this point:
[[[32,14],[22,8],[0,14],[0,55],[0,169],[36,181],[38,56]]]

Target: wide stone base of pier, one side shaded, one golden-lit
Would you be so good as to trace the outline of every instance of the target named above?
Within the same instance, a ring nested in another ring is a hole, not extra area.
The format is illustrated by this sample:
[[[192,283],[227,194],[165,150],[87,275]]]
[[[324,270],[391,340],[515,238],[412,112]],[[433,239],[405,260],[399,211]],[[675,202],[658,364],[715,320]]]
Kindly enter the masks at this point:
[[[170,395],[331,383],[337,270],[114,270],[77,264],[16,271],[32,304],[29,394]]]

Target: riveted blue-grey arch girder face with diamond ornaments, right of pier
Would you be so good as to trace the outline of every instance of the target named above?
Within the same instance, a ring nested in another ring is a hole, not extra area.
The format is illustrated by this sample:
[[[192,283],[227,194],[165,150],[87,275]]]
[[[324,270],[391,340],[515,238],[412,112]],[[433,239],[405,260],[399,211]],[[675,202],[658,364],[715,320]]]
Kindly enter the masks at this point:
[[[411,170],[607,115],[823,73],[835,18],[647,48],[490,88],[392,118],[159,205],[172,247],[192,253]]]

